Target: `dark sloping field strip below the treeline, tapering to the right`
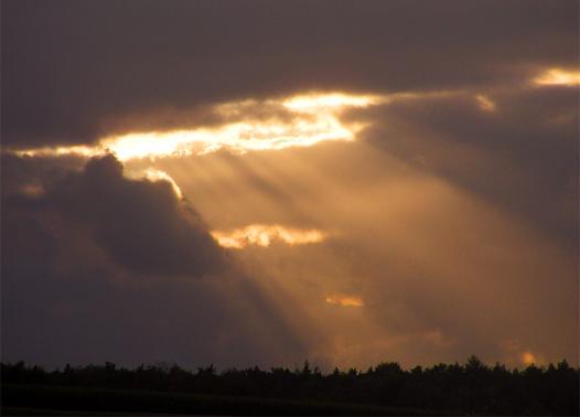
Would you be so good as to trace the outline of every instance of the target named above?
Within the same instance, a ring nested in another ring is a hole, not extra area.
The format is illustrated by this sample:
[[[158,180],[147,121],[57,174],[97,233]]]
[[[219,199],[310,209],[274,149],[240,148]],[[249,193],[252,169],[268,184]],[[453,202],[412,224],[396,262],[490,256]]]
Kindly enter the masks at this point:
[[[2,415],[417,416],[432,411],[202,394],[6,384]],[[447,415],[447,414],[445,414]]]

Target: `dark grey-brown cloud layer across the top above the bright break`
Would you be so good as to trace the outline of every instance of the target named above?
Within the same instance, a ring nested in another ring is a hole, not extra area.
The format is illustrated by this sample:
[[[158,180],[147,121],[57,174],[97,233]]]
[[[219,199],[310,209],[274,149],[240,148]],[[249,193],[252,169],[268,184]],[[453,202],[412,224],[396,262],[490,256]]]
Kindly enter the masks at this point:
[[[142,114],[305,88],[520,81],[576,65],[577,14],[576,1],[8,0],[2,140],[85,143],[148,126]]]

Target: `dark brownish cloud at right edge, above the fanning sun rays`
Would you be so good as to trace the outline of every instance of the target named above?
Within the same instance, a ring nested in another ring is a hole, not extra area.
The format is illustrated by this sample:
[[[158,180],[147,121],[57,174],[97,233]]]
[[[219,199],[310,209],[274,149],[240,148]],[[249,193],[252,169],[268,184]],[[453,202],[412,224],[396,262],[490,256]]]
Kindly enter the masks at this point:
[[[574,245],[578,231],[576,88],[492,90],[401,100],[370,110],[370,143]]]

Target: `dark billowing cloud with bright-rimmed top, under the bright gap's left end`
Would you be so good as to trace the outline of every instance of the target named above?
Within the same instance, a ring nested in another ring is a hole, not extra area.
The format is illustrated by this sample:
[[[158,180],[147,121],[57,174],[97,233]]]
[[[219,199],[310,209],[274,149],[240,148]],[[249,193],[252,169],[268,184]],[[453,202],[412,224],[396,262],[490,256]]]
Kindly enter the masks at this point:
[[[119,265],[151,275],[200,277],[226,264],[198,215],[180,211],[165,181],[129,180],[112,156],[88,161],[46,184],[41,196],[12,196],[12,210],[54,214],[66,227],[83,228]]]

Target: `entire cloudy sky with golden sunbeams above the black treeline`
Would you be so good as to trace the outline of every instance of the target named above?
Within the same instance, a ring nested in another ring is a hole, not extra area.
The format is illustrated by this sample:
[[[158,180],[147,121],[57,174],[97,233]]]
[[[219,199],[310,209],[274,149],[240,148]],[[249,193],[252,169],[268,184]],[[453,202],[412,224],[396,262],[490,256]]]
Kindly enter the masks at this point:
[[[1,7],[2,361],[578,365],[578,1]]]

